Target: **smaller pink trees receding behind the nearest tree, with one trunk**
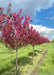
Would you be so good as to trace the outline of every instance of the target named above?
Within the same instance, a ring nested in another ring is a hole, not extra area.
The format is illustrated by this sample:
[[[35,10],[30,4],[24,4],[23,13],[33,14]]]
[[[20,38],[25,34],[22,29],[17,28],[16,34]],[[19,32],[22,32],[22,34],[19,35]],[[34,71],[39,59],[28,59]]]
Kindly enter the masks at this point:
[[[34,60],[34,46],[40,45],[45,42],[49,42],[48,38],[45,38],[41,36],[36,29],[33,28],[33,26],[28,28],[28,35],[26,35],[26,41],[32,45],[33,47],[33,60]]]

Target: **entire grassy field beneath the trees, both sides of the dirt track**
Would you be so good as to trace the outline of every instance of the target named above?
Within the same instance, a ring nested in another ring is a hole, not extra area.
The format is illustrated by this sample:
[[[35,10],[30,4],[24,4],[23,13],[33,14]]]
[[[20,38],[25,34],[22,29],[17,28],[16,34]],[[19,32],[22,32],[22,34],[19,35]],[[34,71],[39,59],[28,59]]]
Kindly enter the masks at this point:
[[[18,51],[18,74],[32,75],[32,72],[42,58],[43,53],[47,50],[47,54],[38,69],[38,75],[48,75],[54,73],[54,46],[51,43],[44,43],[34,47],[34,61],[33,48],[31,45],[22,47]],[[4,44],[0,43],[0,75],[15,75],[16,51],[6,48]],[[32,62],[34,64],[32,64]]]

